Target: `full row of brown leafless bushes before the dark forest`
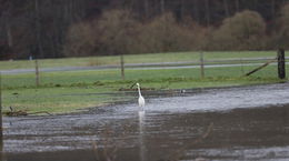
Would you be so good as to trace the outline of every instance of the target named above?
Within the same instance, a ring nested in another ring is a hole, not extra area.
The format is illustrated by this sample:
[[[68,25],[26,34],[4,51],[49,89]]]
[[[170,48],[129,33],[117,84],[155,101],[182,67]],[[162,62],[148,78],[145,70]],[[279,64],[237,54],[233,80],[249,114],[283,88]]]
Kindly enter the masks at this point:
[[[289,4],[268,30],[256,11],[243,10],[218,27],[203,27],[191,17],[178,21],[171,12],[138,21],[128,10],[109,10],[92,21],[71,26],[66,56],[126,54],[189,50],[272,50],[289,48]]]

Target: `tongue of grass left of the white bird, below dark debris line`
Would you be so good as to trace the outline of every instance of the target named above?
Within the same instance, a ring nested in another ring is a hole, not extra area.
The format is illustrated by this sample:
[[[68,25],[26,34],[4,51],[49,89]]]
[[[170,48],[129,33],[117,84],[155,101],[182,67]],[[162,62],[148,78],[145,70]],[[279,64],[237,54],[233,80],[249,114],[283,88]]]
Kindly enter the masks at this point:
[[[8,107],[13,107],[17,110],[27,110],[29,112],[63,113],[103,105],[119,99],[109,94],[99,94],[102,90],[96,90],[97,92],[92,90],[93,88],[6,90],[3,104],[4,110],[8,110]]]

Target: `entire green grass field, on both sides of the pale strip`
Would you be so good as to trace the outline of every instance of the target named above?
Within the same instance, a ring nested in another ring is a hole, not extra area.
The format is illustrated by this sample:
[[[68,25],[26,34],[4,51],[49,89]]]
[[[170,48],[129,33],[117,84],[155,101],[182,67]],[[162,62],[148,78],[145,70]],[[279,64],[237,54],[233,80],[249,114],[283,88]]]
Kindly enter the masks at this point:
[[[275,57],[273,51],[260,52],[206,52],[205,59]],[[175,52],[124,56],[126,63],[198,61],[199,52]],[[89,57],[39,60],[40,68],[87,67],[118,64],[119,57]],[[0,69],[29,69],[34,62],[1,61]],[[127,69],[126,80],[120,70],[90,70],[66,72],[41,72],[40,87],[36,87],[34,73],[2,74],[3,111],[9,107],[28,112],[47,111],[64,113],[93,108],[118,101],[137,100],[120,89],[129,89],[140,82],[144,89],[193,89],[211,87],[275,83],[277,67],[269,66],[251,77],[242,77],[256,67],[206,68],[206,77],[200,78],[199,69]],[[289,69],[287,69],[289,70]],[[146,94],[144,94],[146,97]],[[137,104],[137,103],[136,103]]]

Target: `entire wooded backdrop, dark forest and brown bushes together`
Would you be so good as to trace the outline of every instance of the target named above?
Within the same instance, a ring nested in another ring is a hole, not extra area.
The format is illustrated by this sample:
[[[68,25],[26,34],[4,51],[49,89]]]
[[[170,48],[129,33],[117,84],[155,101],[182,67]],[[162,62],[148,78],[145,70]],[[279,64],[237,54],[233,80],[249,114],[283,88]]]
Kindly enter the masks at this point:
[[[0,0],[0,59],[289,48],[289,0]]]

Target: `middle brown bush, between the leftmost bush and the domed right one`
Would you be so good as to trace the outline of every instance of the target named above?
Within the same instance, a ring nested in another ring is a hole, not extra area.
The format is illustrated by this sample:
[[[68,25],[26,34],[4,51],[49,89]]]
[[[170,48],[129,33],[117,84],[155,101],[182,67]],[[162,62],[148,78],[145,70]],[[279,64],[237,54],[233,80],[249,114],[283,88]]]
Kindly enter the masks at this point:
[[[186,19],[178,23],[172,13],[163,13],[142,26],[139,39],[142,52],[197,50],[202,46],[205,30]]]

